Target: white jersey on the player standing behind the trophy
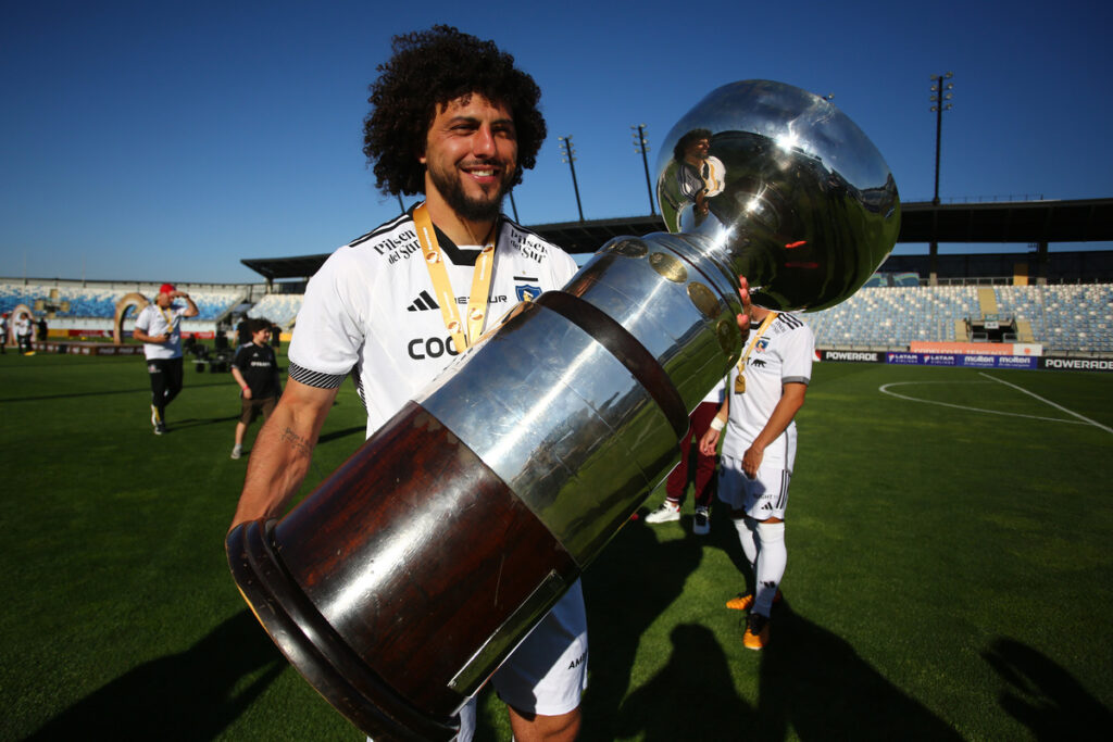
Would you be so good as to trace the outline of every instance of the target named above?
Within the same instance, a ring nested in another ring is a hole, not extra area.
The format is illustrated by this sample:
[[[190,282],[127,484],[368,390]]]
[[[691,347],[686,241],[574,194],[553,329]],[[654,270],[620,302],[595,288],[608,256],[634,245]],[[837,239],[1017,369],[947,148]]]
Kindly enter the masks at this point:
[[[750,332],[752,338],[757,329]],[[742,458],[780,402],[781,385],[808,384],[811,380],[814,354],[815,336],[811,334],[811,328],[796,315],[785,313],[777,315],[746,359],[746,392],[742,394],[735,392],[737,366],[731,369],[727,379],[730,418],[727,421],[722,441],[723,455]],[[788,449],[790,438],[795,441],[795,437],[796,421],[792,421],[785,432],[766,447],[765,456],[790,462]]]

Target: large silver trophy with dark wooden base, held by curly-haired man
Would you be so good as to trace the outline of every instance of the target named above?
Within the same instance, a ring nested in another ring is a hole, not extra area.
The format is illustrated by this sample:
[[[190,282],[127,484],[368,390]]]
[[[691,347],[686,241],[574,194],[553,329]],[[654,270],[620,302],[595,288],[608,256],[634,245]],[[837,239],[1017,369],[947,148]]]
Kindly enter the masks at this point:
[[[722,87],[669,133],[678,234],[611,240],[523,303],[280,522],[234,530],[265,629],[376,740],[455,714],[677,461],[688,413],[738,360],[757,304],[850,296],[899,230],[893,177],[830,102]]]

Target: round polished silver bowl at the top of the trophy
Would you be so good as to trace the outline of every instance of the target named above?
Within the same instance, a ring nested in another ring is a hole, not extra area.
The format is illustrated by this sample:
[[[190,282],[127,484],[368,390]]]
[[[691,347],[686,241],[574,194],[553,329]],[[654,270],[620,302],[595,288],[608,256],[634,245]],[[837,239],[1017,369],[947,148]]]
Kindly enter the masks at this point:
[[[780,82],[709,93],[666,137],[657,174],[668,230],[703,238],[731,280],[746,276],[755,303],[778,311],[846,299],[900,231],[873,142],[829,100]]]

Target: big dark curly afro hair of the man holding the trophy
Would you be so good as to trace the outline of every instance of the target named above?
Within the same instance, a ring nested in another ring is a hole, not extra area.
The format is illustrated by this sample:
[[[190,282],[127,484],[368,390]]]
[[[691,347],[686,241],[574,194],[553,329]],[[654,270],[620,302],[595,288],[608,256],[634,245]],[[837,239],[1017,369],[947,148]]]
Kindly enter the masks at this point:
[[[434,26],[394,37],[394,56],[377,67],[370,87],[372,111],[363,121],[363,154],[374,164],[375,186],[385,194],[425,190],[429,127],[437,108],[469,93],[510,108],[518,136],[518,171],[533,168],[545,139],[545,119],[538,109],[541,89],[514,68],[514,58],[494,41],[482,41],[451,26]]]

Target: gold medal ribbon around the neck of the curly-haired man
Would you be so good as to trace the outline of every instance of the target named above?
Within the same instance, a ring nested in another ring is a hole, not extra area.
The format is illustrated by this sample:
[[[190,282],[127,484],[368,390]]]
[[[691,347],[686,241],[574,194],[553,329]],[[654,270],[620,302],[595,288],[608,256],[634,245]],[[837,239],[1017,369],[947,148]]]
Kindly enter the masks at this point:
[[[444,265],[444,255],[433,229],[433,220],[429,218],[425,205],[414,209],[414,227],[417,230],[417,241],[422,255],[425,256],[425,267],[429,268],[433,291],[441,304],[441,318],[452,334],[456,350],[463,353],[483,332],[483,319],[486,316],[487,300],[491,294],[491,276],[494,273],[494,236],[480,251],[472,273],[472,293],[467,298],[467,326],[460,321],[460,310],[456,308],[456,296],[449,280],[449,269]]]

